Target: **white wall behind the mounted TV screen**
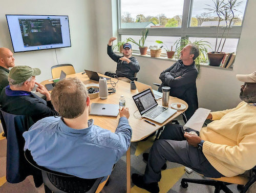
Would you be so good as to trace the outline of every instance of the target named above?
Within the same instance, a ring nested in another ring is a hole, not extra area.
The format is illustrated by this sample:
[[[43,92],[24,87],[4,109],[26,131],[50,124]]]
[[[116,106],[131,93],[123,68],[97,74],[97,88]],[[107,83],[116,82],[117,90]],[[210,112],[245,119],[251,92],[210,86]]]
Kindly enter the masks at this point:
[[[68,15],[72,47],[56,49],[59,63],[71,63],[76,72],[83,69],[98,70],[93,1],[1,1],[0,13],[0,47],[11,51],[13,49],[5,14]],[[36,77],[38,82],[51,78],[51,66],[57,65],[54,49],[14,53],[14,57],[16,66],[40,68],[42,73]]]

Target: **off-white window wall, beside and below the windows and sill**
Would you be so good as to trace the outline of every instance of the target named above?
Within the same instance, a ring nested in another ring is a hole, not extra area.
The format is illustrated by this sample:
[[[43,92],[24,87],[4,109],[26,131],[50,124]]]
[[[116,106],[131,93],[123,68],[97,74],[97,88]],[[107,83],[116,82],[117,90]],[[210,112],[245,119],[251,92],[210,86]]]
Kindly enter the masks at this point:
[[[110,26],[112,24],[111,1],[96,0],[95,7],[97,8],[96,15],[98,15],[96,17],[97,35],[100,38],[98,48],[99,52],[103,50],[103,54],[98,60],[99,71],[101,73],[115,71],[115,62],[106,54],[106,44],[113,34]],[[201,73],[197,79],[199,106],[217,111],[233,108],[241,101],[239,93],[242,82],[236,79],[236,74],[249,74],[256,70],[255,10],[256,1],[249,1],[233,71],[201,67]],[[152,82],[160,82],[158,78],[160,72],[174,63],[168,60],[136,57],[141,66],[141,70],[137,74],[138,80],[150,85]]]

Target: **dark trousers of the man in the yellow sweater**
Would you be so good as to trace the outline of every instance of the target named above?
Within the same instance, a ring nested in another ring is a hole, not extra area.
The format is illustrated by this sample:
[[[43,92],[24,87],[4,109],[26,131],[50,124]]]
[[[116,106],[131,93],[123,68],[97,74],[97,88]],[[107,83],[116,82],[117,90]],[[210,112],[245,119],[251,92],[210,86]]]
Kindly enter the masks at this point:
[[[187,129],[186,131],[193,130]],[[166,125],[159,140],[154,142],[148,157],[144,182],[160,181],[161,167],[166,161],[180,163],[206,177],[220,178],[223,176],[208,162],[200,149],[188,145],[181,125]]]

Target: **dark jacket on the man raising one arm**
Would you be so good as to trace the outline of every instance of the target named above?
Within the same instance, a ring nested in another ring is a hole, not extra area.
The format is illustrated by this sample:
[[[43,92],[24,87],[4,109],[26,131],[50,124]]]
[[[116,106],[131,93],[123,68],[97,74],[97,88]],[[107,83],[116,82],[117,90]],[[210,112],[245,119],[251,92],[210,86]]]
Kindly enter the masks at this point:
[[[135,77],[135,73],[139,72],[140,65],[137,59],[133,56],[131,56],[129,59],[131,60],[130,63],[127,63],[126,61],[119,60],[119,58],[123,56],[119,56],[115,54],[112,50],[112,46],[108,45],[108,55],[117,62],[117,68],[116,68],[116,75],[118,77],[126,77],[132,79]]]

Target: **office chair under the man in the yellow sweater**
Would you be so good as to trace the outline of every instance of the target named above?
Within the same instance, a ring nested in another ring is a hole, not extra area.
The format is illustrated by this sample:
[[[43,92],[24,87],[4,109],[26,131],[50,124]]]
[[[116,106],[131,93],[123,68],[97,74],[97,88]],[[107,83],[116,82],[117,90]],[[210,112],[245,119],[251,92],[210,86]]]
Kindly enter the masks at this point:
[[[183,188],[187,188],[188,187],[187,182],[204,184],[204,185],[215,186],[215,193],[219,193],[220,190],[223,190],[226,193],[232,193],[232,191],[227,187],[227,185],[238,184],[238,189],[241,190],[241,193],[245,193],[255,181],[256,181],[256,167],[253,167],[250,170],[250,177],[247,177],[245,175],[238,175],[230,178],[221,177],[221,178],[210,178],[208,180],[183,178],[181,180],[181,186]],[[251,192],[255,192],[255,191],[251,191]]]

